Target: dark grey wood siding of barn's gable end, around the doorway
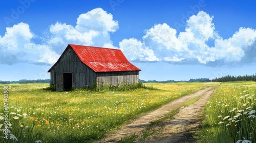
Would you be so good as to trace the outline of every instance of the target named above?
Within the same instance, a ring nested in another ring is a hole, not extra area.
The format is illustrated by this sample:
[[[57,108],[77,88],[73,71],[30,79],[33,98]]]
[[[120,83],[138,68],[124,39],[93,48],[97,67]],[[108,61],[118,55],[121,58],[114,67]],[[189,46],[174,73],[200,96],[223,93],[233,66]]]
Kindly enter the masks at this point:
[[[82,63],[71,47],[61,55],[58,63],[51,70],[51,85],[56,85],[57,73],[72,73],[75,88],[92,87],[96,81],[95,71]]]

